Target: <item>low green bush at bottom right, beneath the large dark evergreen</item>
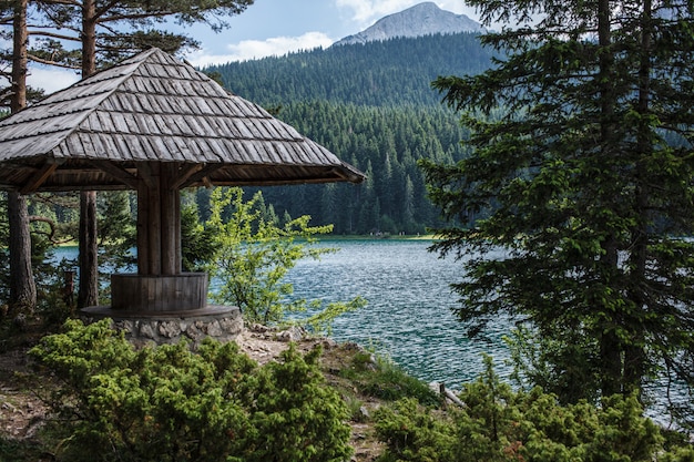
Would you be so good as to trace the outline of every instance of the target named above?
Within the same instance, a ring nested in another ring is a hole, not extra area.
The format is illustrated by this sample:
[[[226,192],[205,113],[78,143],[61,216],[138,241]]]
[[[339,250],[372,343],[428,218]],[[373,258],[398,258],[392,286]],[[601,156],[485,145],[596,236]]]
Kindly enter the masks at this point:
[[[389,461],[652,462],[692,460],[691,446],[664,450],[659,428],[635,397],[614,396],[600,407],[561,405],[553,394],[514,392],[487,371],[465,386],[463,409],[425,409],[411,399],[375,415]]]

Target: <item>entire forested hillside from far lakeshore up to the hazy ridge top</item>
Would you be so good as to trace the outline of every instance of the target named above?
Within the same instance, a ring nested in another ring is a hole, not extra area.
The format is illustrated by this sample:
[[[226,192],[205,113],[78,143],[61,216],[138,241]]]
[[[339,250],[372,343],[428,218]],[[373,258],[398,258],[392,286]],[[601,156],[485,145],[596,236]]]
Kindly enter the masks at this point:
[[[417,160],[457,161],[465,133],[439,103],[438,75],[474,74],[491,52],[471,33],[392,39],[208,68],[368,175],[361,185],[263,188],[282,216],[308,214],[336,234],[416,234],[437,224]],[[204,215],[205,195],[198,193]]]

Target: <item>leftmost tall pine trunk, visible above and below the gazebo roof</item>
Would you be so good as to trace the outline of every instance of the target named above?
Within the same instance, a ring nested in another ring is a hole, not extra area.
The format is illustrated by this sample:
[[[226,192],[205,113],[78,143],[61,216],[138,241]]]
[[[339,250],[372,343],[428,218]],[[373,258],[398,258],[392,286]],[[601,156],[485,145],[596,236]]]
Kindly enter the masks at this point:
[[[12,113],[27,106],[27,0],[20,0],[14,9],[13,21]],[[24,196],[14,191],[9,192],[10,316],[33,312],[37,305],[28,215]]]

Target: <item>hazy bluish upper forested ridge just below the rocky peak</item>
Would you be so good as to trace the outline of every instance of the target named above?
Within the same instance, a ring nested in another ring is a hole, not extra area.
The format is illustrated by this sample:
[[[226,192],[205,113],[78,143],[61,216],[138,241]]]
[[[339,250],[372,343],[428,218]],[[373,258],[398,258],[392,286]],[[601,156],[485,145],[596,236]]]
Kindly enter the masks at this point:
[[[479,73],[489,68],[491,57],[477,34],[458,33],[335,45],[205,71],[218,72],[227,89],[263,105],[329,101],[437,106],[433,79]]]

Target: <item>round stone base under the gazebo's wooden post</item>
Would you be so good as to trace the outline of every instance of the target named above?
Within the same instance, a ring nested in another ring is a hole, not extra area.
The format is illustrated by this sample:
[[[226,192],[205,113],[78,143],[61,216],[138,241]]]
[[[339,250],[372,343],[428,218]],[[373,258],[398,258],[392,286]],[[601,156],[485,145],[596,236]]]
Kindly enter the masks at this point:
[[[244,328],[237,307],[211,305],[185,311],[137,312],[112,309],[108,306],[82,309],[89,321],[111,318],[115,329],[123,330],[125,338],[140,348],[147,343],[176,343],[186,340],[196,348],[205,337],[222,342],[234,340]]]

